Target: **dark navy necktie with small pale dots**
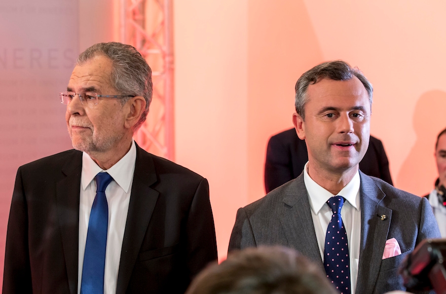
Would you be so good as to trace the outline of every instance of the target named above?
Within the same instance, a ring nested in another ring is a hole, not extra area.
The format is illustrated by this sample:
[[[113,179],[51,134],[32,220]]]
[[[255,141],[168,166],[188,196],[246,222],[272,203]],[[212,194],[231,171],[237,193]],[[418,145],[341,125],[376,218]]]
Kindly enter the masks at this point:
[[[324,267],[327,278],[341,294],[350,294],[350,256],[347,233],[341,217],[344,197],[334,196],[328,199],[333,215],[325,235]]]

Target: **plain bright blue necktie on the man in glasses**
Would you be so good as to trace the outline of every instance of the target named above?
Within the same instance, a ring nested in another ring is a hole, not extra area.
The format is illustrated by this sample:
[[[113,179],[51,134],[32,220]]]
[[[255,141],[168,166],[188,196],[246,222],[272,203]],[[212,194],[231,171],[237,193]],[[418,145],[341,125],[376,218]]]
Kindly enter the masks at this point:
[[[108,204],[105,188],[113,180],[106,172],[96,175],[96,197],[91,207],[85,243],[81,293],[104,292],[105,247],[107,245]]]

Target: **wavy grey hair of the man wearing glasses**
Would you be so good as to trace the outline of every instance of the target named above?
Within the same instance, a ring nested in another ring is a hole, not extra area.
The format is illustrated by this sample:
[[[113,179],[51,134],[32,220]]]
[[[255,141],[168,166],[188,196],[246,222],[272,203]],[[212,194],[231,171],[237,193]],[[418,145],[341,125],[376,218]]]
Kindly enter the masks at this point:
[[[89,47],[79,55],[76,63],[82,65],[98,55],[112,60],[113,70],[110,80],[121,95],[144,97],[145,109],[133,128],[136,131],[145,121],[148,106],[152,101],[152,69],[133,46],[117,42],[98,43]],[[122,99],[122,104],[124,105],[129,99],[130,97]]]

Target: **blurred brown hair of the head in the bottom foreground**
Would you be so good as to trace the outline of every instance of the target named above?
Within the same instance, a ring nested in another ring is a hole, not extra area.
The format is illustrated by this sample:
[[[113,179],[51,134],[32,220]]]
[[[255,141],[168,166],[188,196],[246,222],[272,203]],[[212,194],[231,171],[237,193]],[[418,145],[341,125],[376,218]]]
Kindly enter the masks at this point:
[[[336,294],[320,267],[297,251],[258,247],[235,251],[212,264],[186,294]]]

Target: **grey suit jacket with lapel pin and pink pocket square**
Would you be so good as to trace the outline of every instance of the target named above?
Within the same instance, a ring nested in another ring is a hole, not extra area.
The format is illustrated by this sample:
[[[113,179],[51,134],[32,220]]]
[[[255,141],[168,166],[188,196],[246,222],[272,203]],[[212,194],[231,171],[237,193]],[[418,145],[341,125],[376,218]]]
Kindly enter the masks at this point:
[[[399,264],[423,239],[440,237],[432,208],[425,198],[359,173],[361,244],[356,293],[405,290],[397,274]],[[402,254],[382,260],[390,238],[398,241]],[[229,251],[258,245],[294,248],[325,272],[303,174],[238,210]]]

